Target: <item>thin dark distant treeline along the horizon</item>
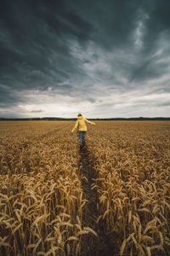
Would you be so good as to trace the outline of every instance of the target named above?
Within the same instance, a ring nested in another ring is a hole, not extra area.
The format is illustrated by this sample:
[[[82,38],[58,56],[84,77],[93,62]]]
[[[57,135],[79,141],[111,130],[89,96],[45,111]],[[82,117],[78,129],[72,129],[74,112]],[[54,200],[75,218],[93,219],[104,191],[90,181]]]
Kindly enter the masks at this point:
[[[43,117],[43,118],[15,118],[15,119],[8,119],[8,118],[0,118],[1,121],[31,121],[31,120],[48,120],[48,121],[75,121],[77,118],[65,119],[65,118],[55,118],[55,117]],[[101,120],[101,121],[119,121],[119,120],[170,120],[170,117],[155,117],[155,118],[147,118],[147,117],[139,117],[139,118],[111,118],[111,119],[89,119],[89,120]]]

